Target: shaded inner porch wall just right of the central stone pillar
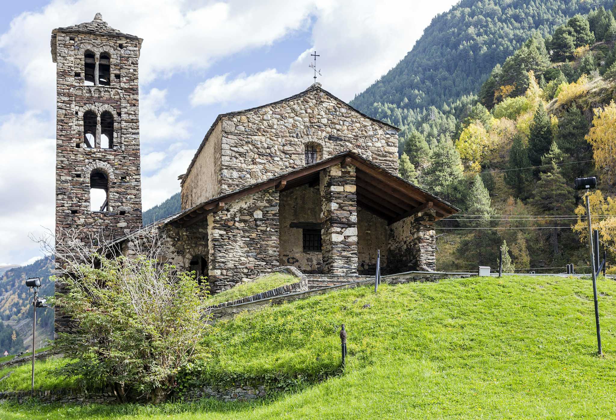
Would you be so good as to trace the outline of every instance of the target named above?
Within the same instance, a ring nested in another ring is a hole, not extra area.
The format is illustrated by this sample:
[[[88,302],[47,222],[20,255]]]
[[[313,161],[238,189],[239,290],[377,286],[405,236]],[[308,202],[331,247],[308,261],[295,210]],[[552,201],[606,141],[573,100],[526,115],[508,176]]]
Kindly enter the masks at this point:
[[[381,269],[387,265],[387,220],[359,208],[357,211],[357,271],[376,274],[376,251],[381,250]]]

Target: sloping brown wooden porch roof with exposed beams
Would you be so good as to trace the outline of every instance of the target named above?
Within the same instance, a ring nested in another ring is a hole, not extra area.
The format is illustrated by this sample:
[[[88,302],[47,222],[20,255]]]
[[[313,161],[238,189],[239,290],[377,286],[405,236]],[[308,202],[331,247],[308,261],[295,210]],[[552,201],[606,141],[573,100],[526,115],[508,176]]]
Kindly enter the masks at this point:
[[[319,172],[338,163],[342,166],[355,166],[357,205],[387,220],[389,224],[430,208],[436,211],[437,220],[460,211],[447,201],[441,200],[437,196],[391,174],[378,164],[368,161],[352,151],[346,151],[303,168],[204,201],[169,218],[165,224],[190,226],[203,220],[211,212],[221,211],[224,209],[225,203],[267,188],[285,191],[304,184],[318,185]]]

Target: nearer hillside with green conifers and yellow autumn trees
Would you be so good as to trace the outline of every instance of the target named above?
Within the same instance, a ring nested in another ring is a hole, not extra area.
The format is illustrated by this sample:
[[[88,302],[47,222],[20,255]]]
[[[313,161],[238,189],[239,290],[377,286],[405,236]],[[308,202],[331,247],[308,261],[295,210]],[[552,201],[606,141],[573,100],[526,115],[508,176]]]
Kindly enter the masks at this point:
[[[588,272],[581,176],[598,176],[591,212],[613,264],[615,41],[610,10],[575,15],[497,64],[438,143],[410,132],[400,174],[463,209],[436,227],[439,269],[495,267],[503,248],[506,270]]]

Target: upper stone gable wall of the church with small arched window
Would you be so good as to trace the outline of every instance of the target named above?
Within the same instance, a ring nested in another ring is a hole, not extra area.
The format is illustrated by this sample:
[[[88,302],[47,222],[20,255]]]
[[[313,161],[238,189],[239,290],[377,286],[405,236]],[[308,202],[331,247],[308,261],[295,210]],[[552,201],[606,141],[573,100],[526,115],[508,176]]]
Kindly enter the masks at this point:
[[[222,115],[219,124],[222,127],[221,193],[301,168],[305,164],[307,143],[320,145],[322,159],[353,150],[394,174],[398,172],[397,132],[334,99],[320,89],[320,84],[288,100]],[[206,139],[206,143],[209,141]],[[198,153],[208,153],[206,149],[203,147]],[[193,171],[203,169],[206,168],[193,165],[182,185],[182,189],[187,189],[182,196],[199,195],[192,190],[201,185],[188,184],[188,180],[193,179]],[[196,204],[195,201],[190,203]]]

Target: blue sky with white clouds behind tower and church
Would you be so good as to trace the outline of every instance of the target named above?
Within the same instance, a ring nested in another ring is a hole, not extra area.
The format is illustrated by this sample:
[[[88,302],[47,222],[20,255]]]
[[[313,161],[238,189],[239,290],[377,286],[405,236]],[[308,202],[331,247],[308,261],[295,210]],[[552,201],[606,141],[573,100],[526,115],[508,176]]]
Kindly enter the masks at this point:
[[[0,265],[40,256],[54,228],[55,65],[51,31],[97,12],[144,39],[143,208],[179,191],[219,113],[272,102],[318,79],[351,100],[401,60],[454,0],[10,1],[0,14]]]

